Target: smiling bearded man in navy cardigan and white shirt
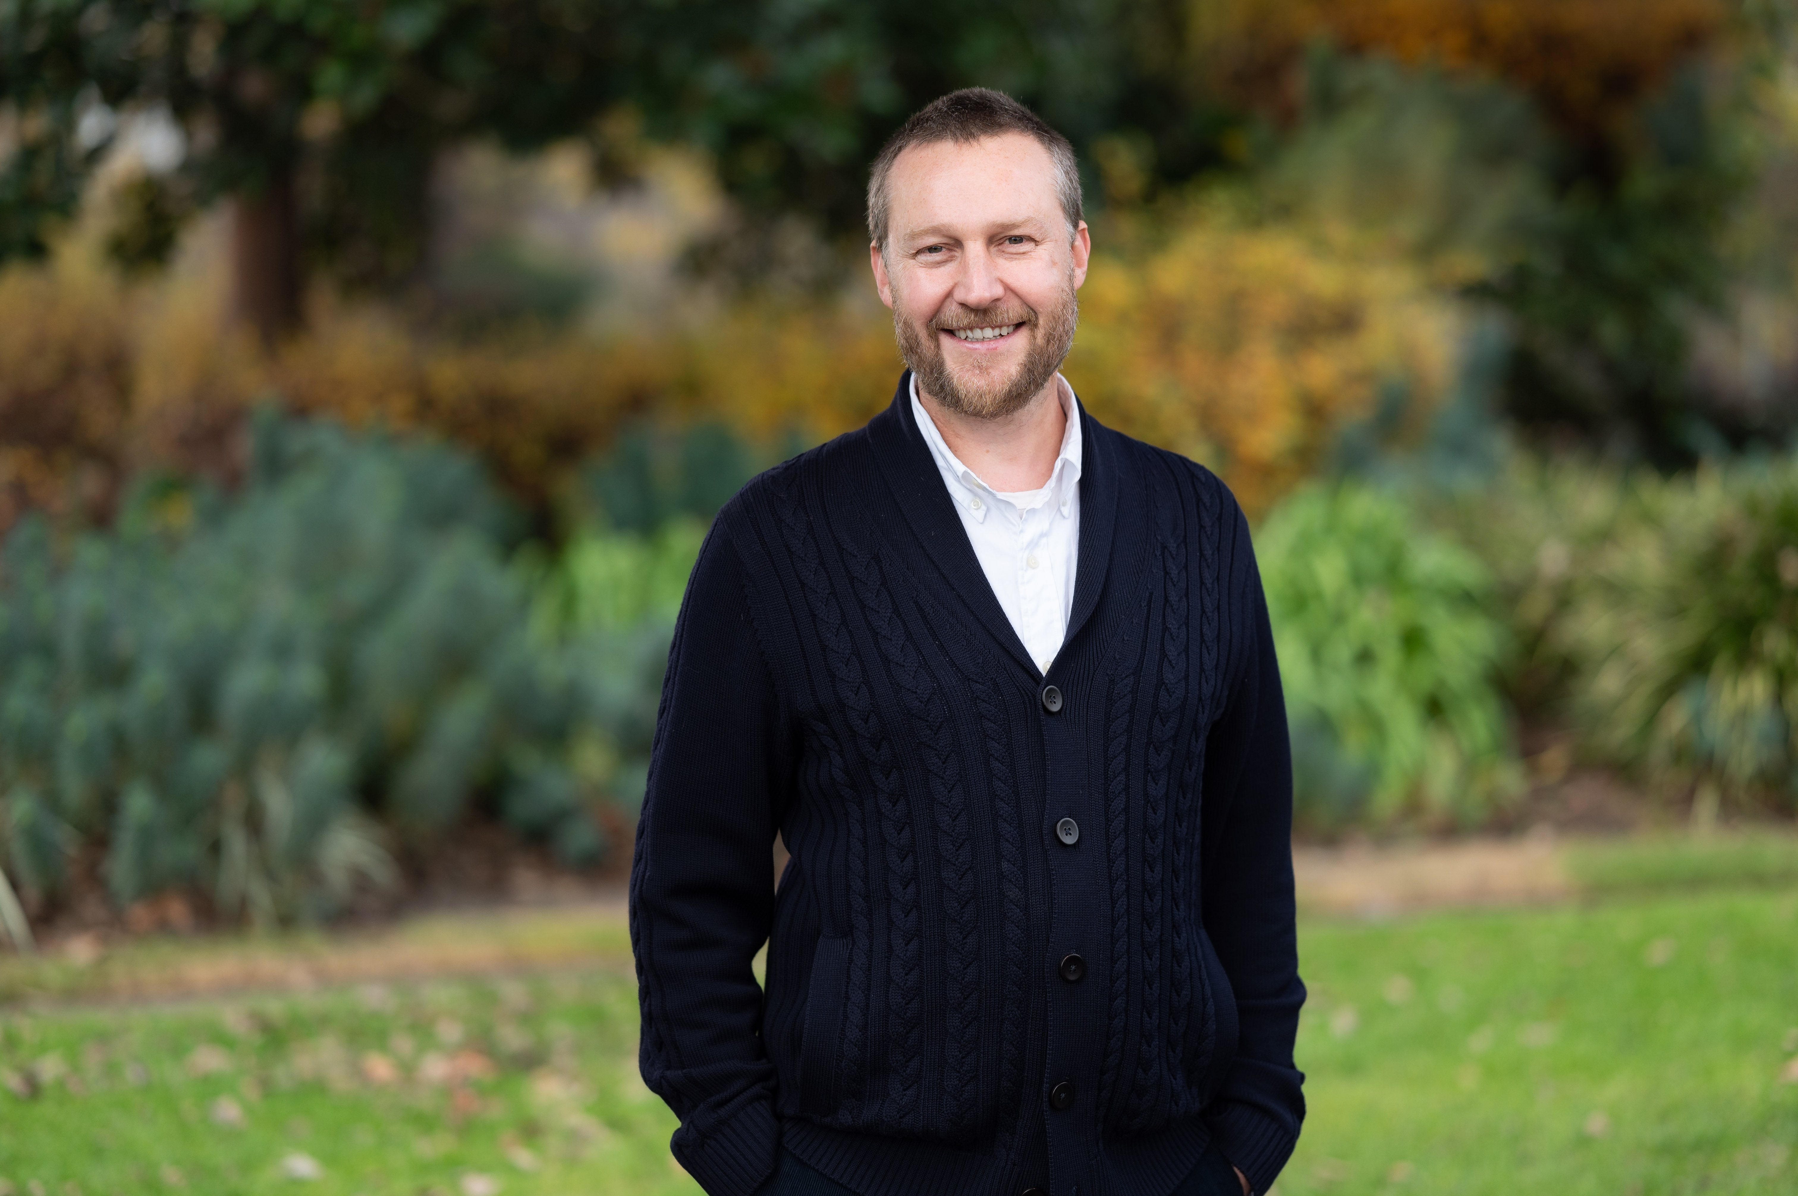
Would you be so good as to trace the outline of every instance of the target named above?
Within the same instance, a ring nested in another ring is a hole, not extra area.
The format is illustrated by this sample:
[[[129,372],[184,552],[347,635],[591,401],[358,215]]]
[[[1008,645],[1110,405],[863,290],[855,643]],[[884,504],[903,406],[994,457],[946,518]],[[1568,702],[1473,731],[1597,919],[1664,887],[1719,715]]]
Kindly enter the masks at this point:
[[[1266,1191],[1304,986],[1248,527],[1057,374],[1091,241],[1027,108],[912,117],[868,232],[910,370],[725,507],[669,655],[631,941],[674,1155],[717,1196]]]

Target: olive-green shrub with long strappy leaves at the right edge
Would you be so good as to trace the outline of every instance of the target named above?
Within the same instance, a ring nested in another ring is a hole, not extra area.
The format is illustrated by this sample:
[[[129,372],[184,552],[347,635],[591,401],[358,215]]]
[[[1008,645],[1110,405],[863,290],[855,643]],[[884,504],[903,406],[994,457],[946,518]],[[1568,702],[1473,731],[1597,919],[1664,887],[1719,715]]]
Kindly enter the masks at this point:
[[[1798,809],[1798,462],[1638,475],[1625,511],[1557,628],[1588,754],[1692,788],[1699,822]]]

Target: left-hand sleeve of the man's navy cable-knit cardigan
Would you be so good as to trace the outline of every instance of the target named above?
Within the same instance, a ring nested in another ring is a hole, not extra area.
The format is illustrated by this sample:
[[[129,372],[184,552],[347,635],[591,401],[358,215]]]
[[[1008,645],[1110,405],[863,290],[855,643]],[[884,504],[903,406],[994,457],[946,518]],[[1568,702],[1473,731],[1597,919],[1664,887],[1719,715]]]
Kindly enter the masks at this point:
[[[644,1083],[714,1196],[748,1196],[780,1146],[752,960],[773,921],[789,750],[725,518],[681,602],[631,860]]]

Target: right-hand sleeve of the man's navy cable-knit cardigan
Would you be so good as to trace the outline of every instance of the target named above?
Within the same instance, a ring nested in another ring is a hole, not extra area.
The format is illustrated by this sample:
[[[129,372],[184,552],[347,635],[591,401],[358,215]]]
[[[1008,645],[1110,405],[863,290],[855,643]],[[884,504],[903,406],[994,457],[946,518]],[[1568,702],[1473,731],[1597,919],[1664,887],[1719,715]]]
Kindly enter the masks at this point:
[[[1237,1054],[1205,1113],[1224,1156],[1266,1192],[1305,1117],[1304,1074],[1293,1065],[1305,1000],[1293,901],[1293,763],[1268,602],[1248,522],[1233,504],[1221,532],[1235,651],[1228,705],[1205,754],[1203,910],[1235,995]]]

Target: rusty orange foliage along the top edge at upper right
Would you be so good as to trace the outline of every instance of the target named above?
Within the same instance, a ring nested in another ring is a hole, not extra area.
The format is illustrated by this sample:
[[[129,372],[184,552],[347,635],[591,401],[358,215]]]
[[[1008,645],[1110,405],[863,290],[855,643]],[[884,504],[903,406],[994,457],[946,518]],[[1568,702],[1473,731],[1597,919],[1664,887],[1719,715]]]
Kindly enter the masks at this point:
[[[1730,25],[1726,0],[1194,0],[1199,59],[1291,110],[1305,41],[1507,79],[1562,128],[1602,131]]]

